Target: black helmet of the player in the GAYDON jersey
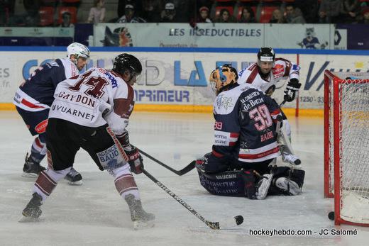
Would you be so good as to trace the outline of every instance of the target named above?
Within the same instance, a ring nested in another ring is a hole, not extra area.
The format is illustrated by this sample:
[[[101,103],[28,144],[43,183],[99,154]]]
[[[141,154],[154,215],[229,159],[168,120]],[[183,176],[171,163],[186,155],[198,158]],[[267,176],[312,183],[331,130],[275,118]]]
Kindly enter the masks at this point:
[[[142,72],[141,62],[133,55],[123,53],[115,57],[113,69],[123,75],[126,70],[131,72],[131,77],[138,76]]]

